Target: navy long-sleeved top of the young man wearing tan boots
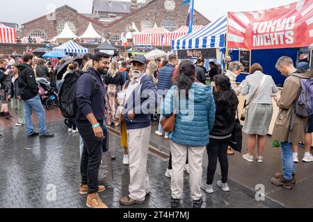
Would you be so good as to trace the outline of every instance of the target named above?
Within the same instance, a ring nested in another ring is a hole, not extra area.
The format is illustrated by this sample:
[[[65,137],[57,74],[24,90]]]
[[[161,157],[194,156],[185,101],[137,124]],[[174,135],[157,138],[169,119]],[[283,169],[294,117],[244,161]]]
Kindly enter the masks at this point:
[[[93,74],[97,78],[97,83],[99,89],[93,95],[94,91],[94,80],[90,76]],[[105,115],[105,95],[106,89],[104,88],[101,75],[93,68],[88,70],[88,73],[83,74],[77,80],[77,91],[76,91],[76,100],[77,100],[77,126],[91,126],[91,123],[88,121],[86,116],[90,113],[95,115],[95,118],[99,123],[104,123]]]

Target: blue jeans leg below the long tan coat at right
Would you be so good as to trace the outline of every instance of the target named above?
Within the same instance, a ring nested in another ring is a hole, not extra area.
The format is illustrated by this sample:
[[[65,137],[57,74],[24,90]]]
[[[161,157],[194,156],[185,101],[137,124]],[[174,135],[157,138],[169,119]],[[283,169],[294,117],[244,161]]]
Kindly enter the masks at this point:
[[[289,142],[280,142],[280,146],[282,146],[282,170],[284,171],[284,179],[289,181],[292,180],[292,173],[295,173],[292,144]]]

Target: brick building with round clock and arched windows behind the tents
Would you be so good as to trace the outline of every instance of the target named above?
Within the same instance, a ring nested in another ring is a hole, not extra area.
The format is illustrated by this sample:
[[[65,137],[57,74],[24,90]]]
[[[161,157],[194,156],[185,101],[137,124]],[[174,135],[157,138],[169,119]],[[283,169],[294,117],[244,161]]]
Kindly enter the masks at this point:
[[[51,15],[22,24],[22,36],[40,36],[51,40],[61,33],[65,22],[76,35],[82,35],[89,22],[95,30],[111,42],[120,42],[121,33],[126,33],[134,22],[139,31],[145,28],[164,26],[175,31],[186,25],[188,6],[182,6],[181,0],[147,0],[145,3],[94,0],[92,14],[81,14],[74,8],[63,6]],[[194,24],[207,25],[209,20],[195,10]]]

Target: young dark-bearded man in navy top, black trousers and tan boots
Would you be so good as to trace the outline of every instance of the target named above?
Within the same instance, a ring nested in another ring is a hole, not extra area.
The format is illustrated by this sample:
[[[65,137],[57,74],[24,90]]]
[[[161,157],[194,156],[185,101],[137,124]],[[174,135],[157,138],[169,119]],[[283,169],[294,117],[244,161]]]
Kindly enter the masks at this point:
[[[80,194],[88,194],[86,205],[90,208],[107,208],[99,198],[98,192],[106,190],[99,186],[98,175],[102,160],[103,126],[105,124],[104,108],[106,90],[101,75],[109,69],[110,56],[96,53],[93,67],[77,81],[77,128],[83,138],[81,157]],[[95,82],[95,79],[97,82]],[[95,85],[99,87],[96,90]]]

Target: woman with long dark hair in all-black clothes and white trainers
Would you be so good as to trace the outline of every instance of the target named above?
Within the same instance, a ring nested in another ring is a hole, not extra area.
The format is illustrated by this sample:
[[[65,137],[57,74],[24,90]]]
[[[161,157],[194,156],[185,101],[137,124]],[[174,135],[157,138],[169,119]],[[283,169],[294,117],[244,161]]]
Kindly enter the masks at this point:
[[[213,180],[217,160],[220,162],[222,171],[222,180],[218,180],[217,185],[223,191],[230,191],[227,185],[227,148],[234,130],[236,109],[239,104],[238,98],[231,88],[230,78],[225,75],[216,75],[214,76],[214,83],[215,90],[213,96],[216,104],[216,117],[214,127],[210,133],[210,143],[207,145],[209,165],[207,167],[207,186],[205,187],[205,191],[209,194],[214,192]]]

